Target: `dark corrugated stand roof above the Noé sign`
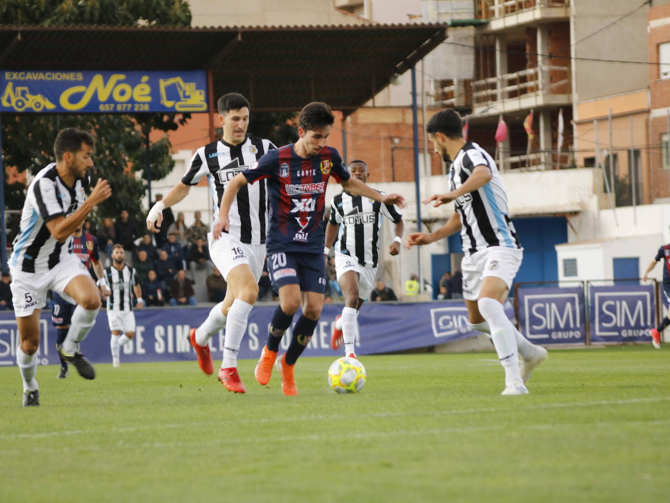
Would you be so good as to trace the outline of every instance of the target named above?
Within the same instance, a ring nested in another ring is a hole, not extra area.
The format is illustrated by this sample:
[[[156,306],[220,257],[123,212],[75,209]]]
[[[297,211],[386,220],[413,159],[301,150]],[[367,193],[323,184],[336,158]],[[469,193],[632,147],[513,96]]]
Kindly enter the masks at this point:
[[[447,37],[443,24],[287,27],[0,25],[3,70],[212,70],[257,111],[325,101],[350,115]]]

